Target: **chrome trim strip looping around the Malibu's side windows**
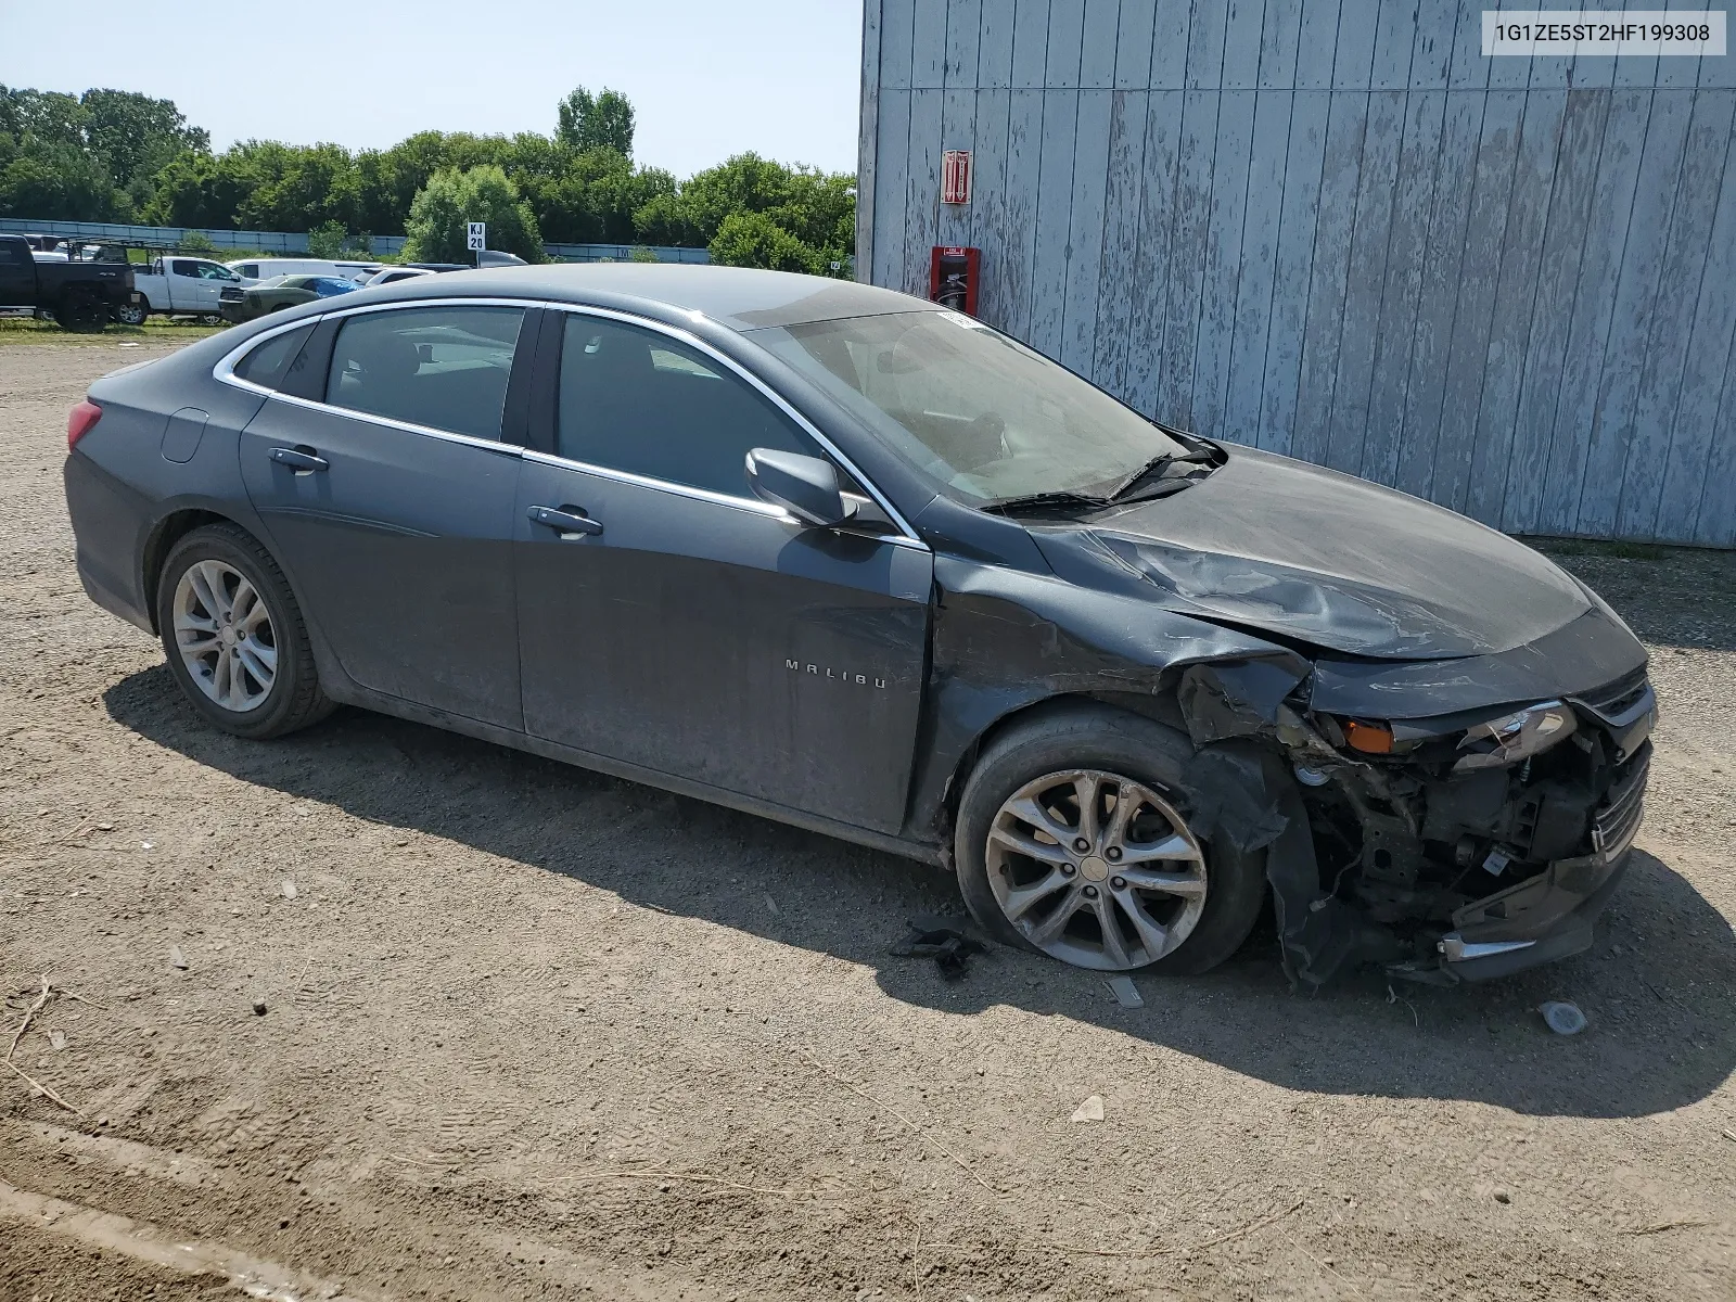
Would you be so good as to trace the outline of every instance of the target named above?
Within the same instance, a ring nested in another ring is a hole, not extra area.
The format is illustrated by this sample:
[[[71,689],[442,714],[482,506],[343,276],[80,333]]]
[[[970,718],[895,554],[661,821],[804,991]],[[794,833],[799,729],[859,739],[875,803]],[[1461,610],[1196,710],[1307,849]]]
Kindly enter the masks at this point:
[[[401,431],[406,431],[410,434],[425,434],[427,437],[432,437],[432,439],[444,439],[446,443],[460,443],[460,444],[465,444],[465,446],[472,446],[472,448],[483,448],[484,451],[509,453],[509,455],[519,457],[523,460],[536,462],[540,465],[554,465],[557,469],[564,467],[564,469],[582,470],[585,474],[601,476],[604,479],[615,479],[615,481],[623,483],[623,484],[637,484],[639,488],[651,488],[651,490],[656,490],[656,491],[674,493],[677,496],[693,498],[696,502],[710,502],[710,503],[720,505],[720,507],[734,507],[736,510],[748,510],[748,512],[752,512],[755,516],[767,516],[771,519],[785,521],[785,523],[790,523],[790,524],[800,524],[800,521],[795,516],[792,516],[788,510],[785,510],[783,507],[774,507],[769,502],[760,502],[755,496],[734,496],[731,493],[715,493],[715,491],[712,491],[708,488],[694,488],[691,484],[677,484],[677,483],[668,481],[668,479],[654,479],[651,476],[632,474],[630,470],[615,470],[615,469],[606,467],[606,465],[594,465],[590,462],[576,462],[576,460],[573,460],[569,457],[559,457],[559,455],[554,455],[554,453],[536,451],[535,448],[524,448],[524,446],[521,446],[517,443],[505,443],[505,441],[500,441],[500,439],[477,439],[477,437],[474,437],[470,434],[455,434],[455,432],[444,431],[444,429],[431,429],[429,425],[415,425],[415,424],[411,424],[408,420],[394,420],[391,417],[377,417],[377,415],[373,415],[370,411],[356,411],[356,410],[347,408],[347,406],[333,406],[332,403],[316,403],[316,401],[312,401],[309,398],[295,398],[293,394],[285,394],[285,392],[279,392],[276,389],[267,389],[262,384],[253,384],[252,380],[243,380],[240,375],[234,373],[236,363],[243,356],[247,356],[248,352],[252,352],[255,347],[259,347],[260,344],[264,344],[267,339],[274,339],[276,335],[286,333],[290,330],[300,330],[306,325],[318,326],[321,321],[328,321],[328,319],[339,318],[339,316],[359,316],[361,312],[385,312],[385,311],[394,311],[394,309],[399,309],[399,307],[523,307],[524,311],[529,311],[533,307],[545,307],[549,311],[568,312],[571,316],[597,316],[597,318],[602,318],[602,319],[608,319],[608,321],[621,321],[625,325],[641,326],[644,330],[651,330],[654,333],[660,333],[660,335],[674,339],[674,340],[677,340],[681,344],[686,344],[687,347],[698,351],[700,354],[703,354],[707,358],[712,358],[720,366],[724,366],[731,373],[741,377],[753,389],[757,389],[760,394],[764,394],[766,398],[769,398],[771,403],[773,403],[773,406],[776,406],[779,411],[785,413],[785,417],[788,417],[790,420],[793,420],[795,425],[804,434],[807,434],[807,437],[811,437],[814,443],[818,443],[830,457],[833,457],[838,462],[838,465],[842,465],[851,474],[851,477],[856,479],[858,484],[861,484],[863,488],[868,490],[868,495],[873,498],[875,505],[878,505],[880,510],[885,512],[887,519],[892,521],[894,528],[899,529],[899,533],[896,533],[896,535],[885,535],[885,533],[877,535],[880,538],[880,542],[894,543],[898,547],[913,547],[913,549],[922,550],[922,552],[930,550],[929,545],[925,542],[922,542],[922,538],[917,536],[917,531],[910,526],[910,521],[906,521],[899,514],[899,510],[880,491],[880,488],[868,476],[865,476],[856,467],[856,464],[849,457],[845,457],[844,451],[832,439],[828,439],[825,434],[821,434],[814,427],[814,424],[811,420],[807,420],[807,417],[804,417],[788,401],[785,401],[783,394],[779,394],[776,389],[773,389],[769,384],[766,384],[760,377],[757,377],[753,372],[750,372],[745,366],[741,366],[733,358],[719,352],[715,347],[712,347],[703,339],[700,339],[698,335],[693,335],[687,330],[681,330],[677,326],[672,326],[667,321],[654,321],[654,319],[651,319],[648,316],[637,316],[634,312],[621,312],[621,311],[616,311],[613,307],[594,307],[590,304],[573,304],[573,302],[550,302],[547,299],[458,299],[458,297],[450,297],[450,299],[448,297],[439,297],[439,299],[391,299],[387,302],[358,304],[354,307],[335,307],[335,309],[332,309],[328,312],[318,312],[314,316],[300,316],[300,318],[297,318],[293,321],[285,321],[281,326],[273,326],[271,330],[260,330],[257,335],[252,335],[247,342],[238,344],[236,347],[229,349],[229,352],[226,352],[217,361],[217,365],[212,368],[212,377],[217,378],[217,380],[220,380],[220,382],[224,382],[224,384],[234,385],[236,389],[245,389],[248,392],[260,394],[264,398],[274,398],[279,403],[290,403],[292,406],[302,406],[302,408],[307,408],[309,411],[326,411],[326,413],[347,417],[351,420],[365,420],[365,422],[368,422],[372,425],[384,425],[385,429],[401,429]]]

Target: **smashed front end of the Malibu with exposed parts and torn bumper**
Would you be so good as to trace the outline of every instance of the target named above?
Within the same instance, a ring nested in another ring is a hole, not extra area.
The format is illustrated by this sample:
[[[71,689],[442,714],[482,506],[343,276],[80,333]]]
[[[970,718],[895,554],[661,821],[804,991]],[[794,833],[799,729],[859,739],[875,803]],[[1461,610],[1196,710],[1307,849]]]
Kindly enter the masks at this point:
[[[1267,804],[1222,832],[1266,828],[1290,976],[1382,962],[1481,981],[1588,948],[1641,823],[1656,719],[1644,665],[1526,707],[1404,719],[1319,708],[1344,696],[1319,677],[1274,705],[1271,665],[1210,663],[1179,691],[1201,788],[1238,783]]]

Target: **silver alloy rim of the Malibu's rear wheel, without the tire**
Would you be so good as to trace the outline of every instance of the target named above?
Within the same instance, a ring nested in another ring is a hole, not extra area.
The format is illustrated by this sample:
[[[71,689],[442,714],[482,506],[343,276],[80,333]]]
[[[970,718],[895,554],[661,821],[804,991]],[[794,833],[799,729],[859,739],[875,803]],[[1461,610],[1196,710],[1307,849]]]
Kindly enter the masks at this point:
[[[175,585],[175,648],[212,701],[257,710],[278,681],[278,637],[259,589],[234,566],[194,561]]]

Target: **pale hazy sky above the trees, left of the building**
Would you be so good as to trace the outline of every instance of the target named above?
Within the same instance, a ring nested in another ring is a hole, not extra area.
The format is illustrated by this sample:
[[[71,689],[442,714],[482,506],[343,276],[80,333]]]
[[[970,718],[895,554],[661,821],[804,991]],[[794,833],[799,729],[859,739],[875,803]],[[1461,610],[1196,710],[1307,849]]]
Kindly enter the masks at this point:
[[[0,0],[0,83],[174,99],[222,149],[380,148],[424,128],[554,132],[575,85],[623,92],[641,163],[689,175],[755,149],[856,170],[861,0]],[[172,17],[163,17],[165,14]],[[30,33],[26,40],[16,40]]]

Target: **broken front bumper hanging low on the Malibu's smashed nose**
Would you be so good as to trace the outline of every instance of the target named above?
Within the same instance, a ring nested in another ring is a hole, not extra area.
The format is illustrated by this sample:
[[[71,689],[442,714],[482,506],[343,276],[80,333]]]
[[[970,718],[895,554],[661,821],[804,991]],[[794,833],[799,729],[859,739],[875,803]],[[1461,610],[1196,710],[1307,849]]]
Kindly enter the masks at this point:
[[[1642,743],[1592,819],[1590,854],[1555,859],[1542,873],[1453,913],[1453,930],[1436,943],[1437,967],[1397,963],[1399,976],[1444,974],[1491,981],[1592,948],[1592,925],[1627,873],[1644,816],[1651,746]]]

